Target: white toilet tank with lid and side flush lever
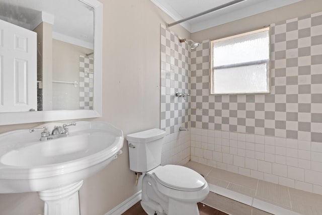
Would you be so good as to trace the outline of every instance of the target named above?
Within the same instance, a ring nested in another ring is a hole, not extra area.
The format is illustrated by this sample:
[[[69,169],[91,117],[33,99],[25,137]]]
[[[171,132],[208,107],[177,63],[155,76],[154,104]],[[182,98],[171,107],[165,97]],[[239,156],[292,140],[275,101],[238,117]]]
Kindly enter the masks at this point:
[[[147,172],[161,164],[165,135],[166,131],[153,128],[126,136],[132,171]]]

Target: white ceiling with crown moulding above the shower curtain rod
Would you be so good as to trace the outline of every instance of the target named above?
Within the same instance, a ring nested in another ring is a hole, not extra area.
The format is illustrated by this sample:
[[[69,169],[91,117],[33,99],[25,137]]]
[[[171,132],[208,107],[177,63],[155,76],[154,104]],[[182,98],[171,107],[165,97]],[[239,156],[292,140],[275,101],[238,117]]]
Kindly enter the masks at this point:
[[[150,0],[175,21],[233,2],[232,0]],[[302,0],[245,0],[181,23],[190,33],[270,11]]]

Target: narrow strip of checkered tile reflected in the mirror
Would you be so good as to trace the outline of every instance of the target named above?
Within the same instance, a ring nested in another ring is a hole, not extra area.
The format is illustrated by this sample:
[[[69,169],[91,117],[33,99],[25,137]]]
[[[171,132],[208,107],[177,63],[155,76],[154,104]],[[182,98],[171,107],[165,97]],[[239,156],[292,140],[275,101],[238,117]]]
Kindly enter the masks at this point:
[[[79,109],[93,110],[94,58],[79,55]]]

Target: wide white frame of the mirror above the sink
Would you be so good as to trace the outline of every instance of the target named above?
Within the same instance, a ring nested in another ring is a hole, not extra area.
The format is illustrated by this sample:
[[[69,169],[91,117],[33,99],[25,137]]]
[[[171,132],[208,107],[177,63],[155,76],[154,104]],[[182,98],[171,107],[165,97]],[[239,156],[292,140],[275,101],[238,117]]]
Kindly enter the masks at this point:
[[[94,110],[52,110],[0,113],[0,125],[96,118],[102,116],[102,39],[103,4],[97,0],[78,0],[94,9]]]

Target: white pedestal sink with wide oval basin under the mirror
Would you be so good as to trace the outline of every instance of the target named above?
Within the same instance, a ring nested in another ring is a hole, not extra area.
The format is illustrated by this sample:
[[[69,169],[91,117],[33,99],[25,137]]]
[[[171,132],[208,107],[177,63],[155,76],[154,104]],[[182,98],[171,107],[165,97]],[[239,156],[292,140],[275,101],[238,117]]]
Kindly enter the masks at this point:
[[[51,130],[62,123],[41,125]],[[123,132],[106,122],[76,122],[69,135],[40,141],[41,131],[0,134],[0,193],[38,192],[45,215],[78,215],[83,179],[122,152]]]

